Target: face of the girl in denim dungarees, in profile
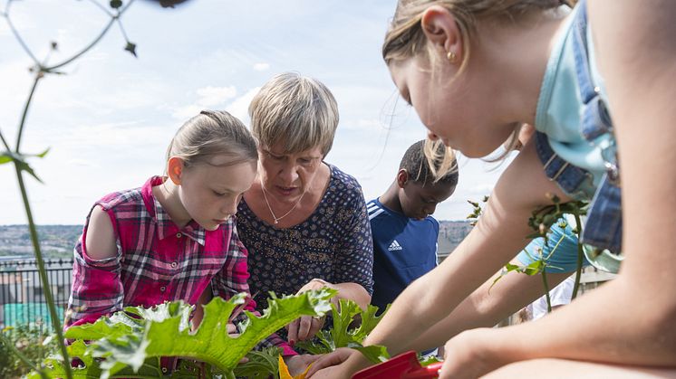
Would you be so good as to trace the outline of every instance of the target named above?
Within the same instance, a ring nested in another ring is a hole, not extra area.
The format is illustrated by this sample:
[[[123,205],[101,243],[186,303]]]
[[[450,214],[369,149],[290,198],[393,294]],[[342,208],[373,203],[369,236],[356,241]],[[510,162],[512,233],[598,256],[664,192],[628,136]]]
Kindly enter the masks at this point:
[[[431,139],[441,139],[465,156],[487,156],[517,124],[502,121],[497,111],[491,111],[495,94],[487,76],[478,75],[470,65],[458,73],[458,65],[437,61],[432,68],[420,57],[392,62],[392,80],[401,97],[416,109]]]

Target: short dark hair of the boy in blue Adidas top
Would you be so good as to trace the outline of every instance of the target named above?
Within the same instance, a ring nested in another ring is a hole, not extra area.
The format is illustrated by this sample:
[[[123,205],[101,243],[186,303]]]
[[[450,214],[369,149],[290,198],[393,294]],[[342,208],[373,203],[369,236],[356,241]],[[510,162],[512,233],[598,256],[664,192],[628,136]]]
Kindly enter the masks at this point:
[[[437,184],[444,183],[447,185],[458,185],[458,168],[453,159],[454,169],[450,170],[446,175],[436,178],[435,175],[430,170],[430,163],[425,156],[425,140],[422,139],[409,147],[404,153],[404,156],[401,158],[401,164],[399,169],[405,169],[409,173],[409,179],[420,183],[421,185],[426,185],[428,183]],[[439,144],[437,147],[437,153],[439,156],[443,156],[446,147],[443,144]],[[435,168],[439,168],[441,162],[439,160],[434,161]]]

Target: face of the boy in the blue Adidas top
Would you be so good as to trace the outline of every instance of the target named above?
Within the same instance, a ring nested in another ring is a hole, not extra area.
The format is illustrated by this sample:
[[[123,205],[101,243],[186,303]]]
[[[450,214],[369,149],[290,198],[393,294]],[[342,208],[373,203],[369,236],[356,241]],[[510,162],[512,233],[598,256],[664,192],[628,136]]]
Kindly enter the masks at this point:
[[[423,220],[434,213],[437,204],[448,199],[455,191],[455,185],[437,183],[421,185],[420,183],[406,180],[400,181],[399,201],[401,212],[406,217]]]

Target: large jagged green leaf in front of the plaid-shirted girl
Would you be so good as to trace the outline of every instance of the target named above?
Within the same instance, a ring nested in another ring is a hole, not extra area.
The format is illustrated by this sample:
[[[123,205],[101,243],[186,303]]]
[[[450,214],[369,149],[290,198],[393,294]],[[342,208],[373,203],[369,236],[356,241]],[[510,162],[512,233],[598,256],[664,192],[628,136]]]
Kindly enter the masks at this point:
[[[233,370],[238,362],[258,342],[302,315],[324,316],[331,309],[329,298],[334,294],[333,289],[320,289],[284,298],[273,297],[260,317],[245,311],[246,321],[238,325],[240,334],[236,337],[228,336],[227,320],[233,310],[245,302],[246,294],[227,301],[212,299],[194,332],[189,323],[194,307],[183,302],[167,302],[153,308],[128,307],[93,324],[68,329],[65,336],[75,339],[68,346],[68,353],[82,361],[82,365],[73,368],[73,375],[75,378],[159,377],[163,374],[159,358],[177,356],[204,362],[208,367],[198,370],[198,365],[184,364],[175,375],[198,377],[202,374],[200,371],[209,371],[234,378]],[[261,362],[263,364],[267,363]],[[48,377],[65,374],[62,356],[50,356],[44,365],[47,368],[43,374]],[[39,376],[38,372],[28,375],[29,378]]]

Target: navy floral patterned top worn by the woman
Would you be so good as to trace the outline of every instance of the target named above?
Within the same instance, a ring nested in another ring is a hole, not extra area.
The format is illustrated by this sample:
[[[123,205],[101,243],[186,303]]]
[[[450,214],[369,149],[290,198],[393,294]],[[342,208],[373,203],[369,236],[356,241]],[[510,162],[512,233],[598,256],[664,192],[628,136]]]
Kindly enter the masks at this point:
[[[277,229],[259,219],[242,200],[237,232],[248,250],[249,287],[258,309],[268,291],[295,294],[314,278],[373,287],[373,244],[362,186],[328,165],[331,179],[319,205],[303,223]]]

